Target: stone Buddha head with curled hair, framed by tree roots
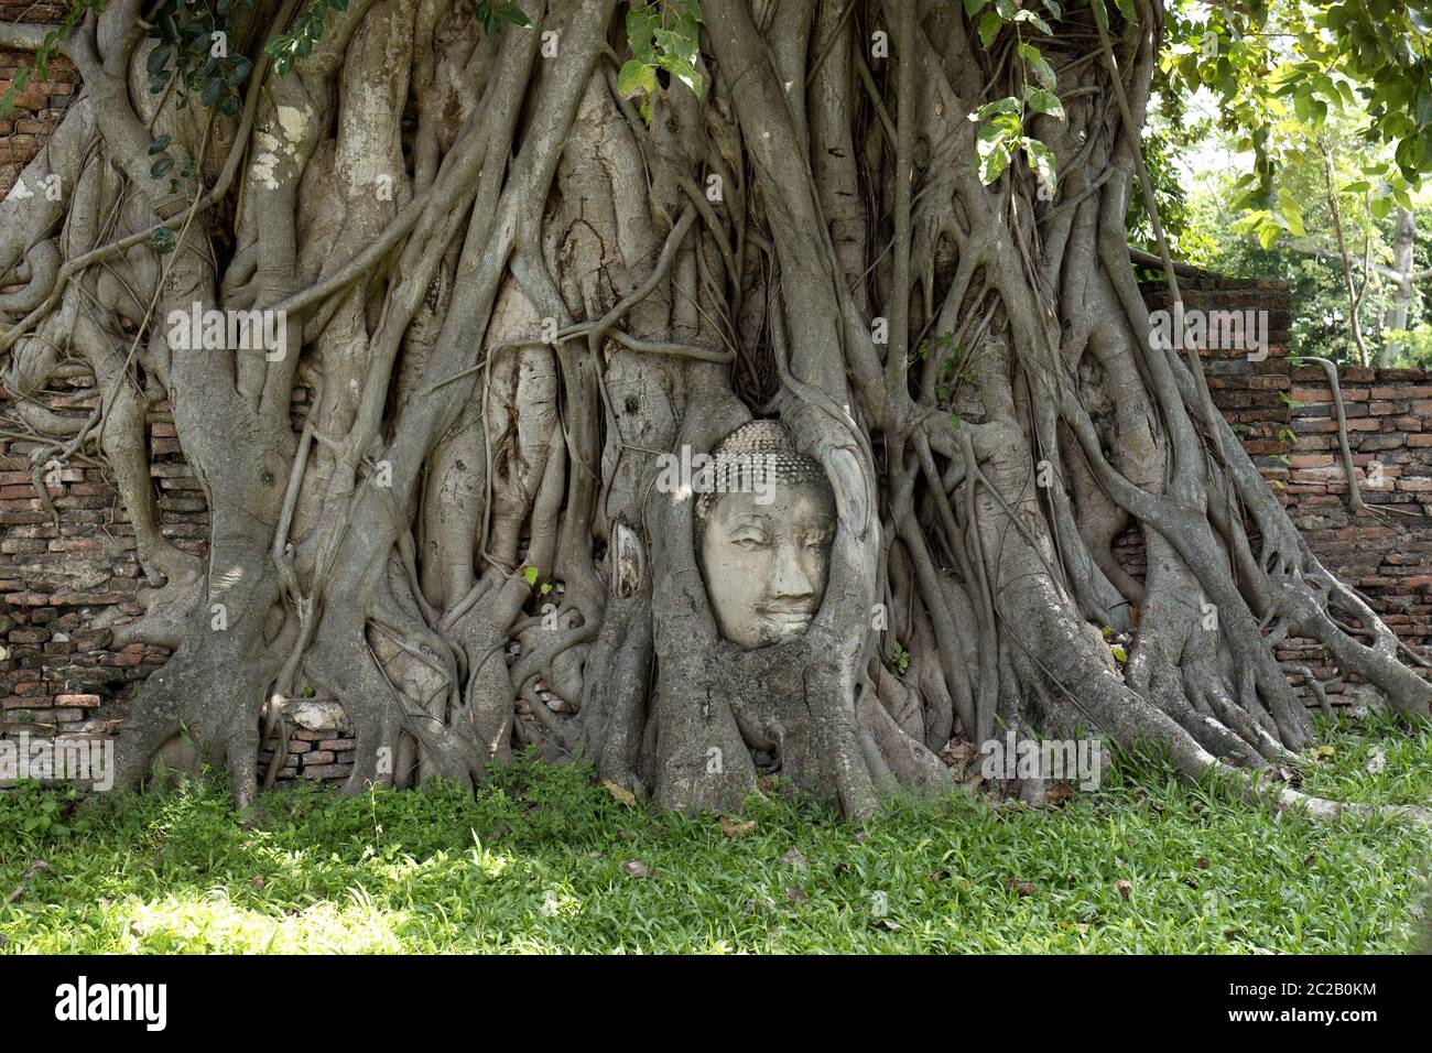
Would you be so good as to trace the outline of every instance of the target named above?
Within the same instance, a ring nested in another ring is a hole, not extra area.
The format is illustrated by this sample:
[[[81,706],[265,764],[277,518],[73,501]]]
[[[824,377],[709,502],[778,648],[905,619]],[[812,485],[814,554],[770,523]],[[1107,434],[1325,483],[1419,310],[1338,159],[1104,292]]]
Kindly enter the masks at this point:
[[[821,609],[835,540],[825,471],[779,421],[716,447],[696,504],[696,552],[722,635],[742,648],[799,636]]]

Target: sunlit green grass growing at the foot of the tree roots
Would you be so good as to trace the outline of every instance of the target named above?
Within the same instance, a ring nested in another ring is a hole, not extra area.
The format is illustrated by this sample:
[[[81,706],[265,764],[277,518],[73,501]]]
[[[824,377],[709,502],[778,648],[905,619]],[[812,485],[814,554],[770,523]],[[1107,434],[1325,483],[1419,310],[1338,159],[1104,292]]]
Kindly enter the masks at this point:
[[[1432,801],[1432,732],[1325,731],[1306,789]],[[1277,815],[1154,762],[1051,811],[955,798],[856,830],[758,802],[743,819],[730,835],[528,762],[477,797],[281,791],[253,825],[213,784],[80,808],[30,787],[0,794],[0,934],[4,953],[1366,953],[1411,946],[1426,888],[1425,831]]]

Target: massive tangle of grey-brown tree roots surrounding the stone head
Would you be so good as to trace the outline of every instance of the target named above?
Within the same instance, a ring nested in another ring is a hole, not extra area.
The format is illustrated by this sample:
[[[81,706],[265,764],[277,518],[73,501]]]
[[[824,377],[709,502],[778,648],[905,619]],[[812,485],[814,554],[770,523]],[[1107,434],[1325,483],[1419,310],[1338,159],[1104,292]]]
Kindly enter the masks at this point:
[[[262,44],[296,3],[258,0],[229,27],[252,59],[232,115],[145,90],[140,4],[90,13],[63,44],[83,90],[23,173],[66,192],[0,205],[0,347],[36,464],[103,461],[122,491],[155,589],[116,640],[175,649],[122,781],[186,729],[248,801],[311,699],[355,728],[349,788],[540,744],[676,808],[779,774],[863,815],[948,788],[937,751],[1004,726],[1157,742],[1253,794],[1313,738],[1290,636],[1426,718],[1197,355],[1147,340],[1123,219],[1161,10],[1040,37],[1064,116],[1024,132],[1054,188],[1022,155],[990,185],[972,163],[967,117],[1020,96],[1017,32],[984,47],[959,4],[919,7],[705,0],[697,93],[621,83],[617,0],[528,0],[533,27],[495,33],[349,0],[286,73]],[[175,328],[211,311],[256,311],[248,347]],[[32,398],[76,368],[92,417]],[[203,562],[158,527],[160,398]],[[819,613],[746,649],[695,501],[656,477],[753,414],[819,466],[838,527]],[[1130,523],[1143,579],[1111,552]]]

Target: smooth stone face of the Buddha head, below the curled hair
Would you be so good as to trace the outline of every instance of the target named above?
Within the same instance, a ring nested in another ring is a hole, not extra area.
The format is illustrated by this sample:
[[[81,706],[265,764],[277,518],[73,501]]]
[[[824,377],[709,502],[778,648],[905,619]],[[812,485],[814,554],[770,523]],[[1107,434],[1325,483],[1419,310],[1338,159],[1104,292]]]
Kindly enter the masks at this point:
[[[706,516],[702,570],[722,635],[743,648],[799,636],[825,595],[835,499],[825,480],[720,496]]]

